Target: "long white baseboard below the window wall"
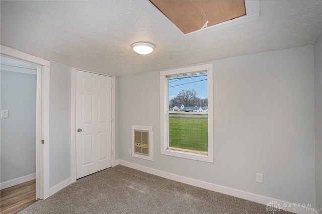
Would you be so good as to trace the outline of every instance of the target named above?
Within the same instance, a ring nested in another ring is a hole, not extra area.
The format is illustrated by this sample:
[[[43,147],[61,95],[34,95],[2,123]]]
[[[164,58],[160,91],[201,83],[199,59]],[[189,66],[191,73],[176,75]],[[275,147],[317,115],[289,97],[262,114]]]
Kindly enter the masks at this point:
[[[196,180],[193,178],[189,178],[189,177],[184,177],[181,175],[177,175],[177,174],[172,174],[172,173],[168,173],[165,171],[161,171],[161,170],[157,170],[157,169],[153,169],[153,168],[149,168],[146,166],[142,166],[142,165],[138,165],[135,163],[131,163],[131,162],[127,162],[124,160],[119,160],[119,164],[123,165],[123,166],[127,166],[133,169],[137,169],[143,172],[147,172],[149,174],[154,174],[160,177],[164,177],[164,178],[168,178],[171,180],[175,180],[178,182],[182,182],[182,183],[186,183],[189,185],[193,185],[193,186],[197,186],[200,188],[204,188],[204,189],[209,189],[212,191],[216,191],[216,192],[220,192],[220,193],[224,193],[227,195],[231,195],[231,196],[235,196],[235,197],[239,197],[239,198],[243,198],[246,200],[251,200],[257,203],[261,203],[264,205],[267,205],[268,203],[279,203],[280,207],[284,210],[290,211],[290,212],[294,212],[294,213],[298,213],[298,214],[315,214],[315,209],[313,207],[309,207],[309,205],[301,205],[301,204],[296,204],[296,203],[291,203],[291,202],[287,202],[287,201],[283,201],[283,200],[279,200],[279,199],[275,199],[275,198],[271,198],[271,197],[266,197],[263,195],[258,195],[258,194],[254,194],[251,192],[246,192],[246,191],[242,191],[242,190],[238,190],[238,189],[233,189],[233,188],[229,188],[226,186],[221,186],[221,185],[217,185],[217,184],[213,184],[213,183],[209,183],[209,182],[205,182],[205,181],[201,181],[201,180]]]

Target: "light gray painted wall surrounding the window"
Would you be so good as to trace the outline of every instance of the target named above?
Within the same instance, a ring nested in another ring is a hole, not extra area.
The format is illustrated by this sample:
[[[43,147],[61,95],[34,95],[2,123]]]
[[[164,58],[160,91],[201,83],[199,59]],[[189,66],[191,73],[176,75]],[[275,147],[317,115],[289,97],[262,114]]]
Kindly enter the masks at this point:
[[[313,46],[208,63],[214,68],[214,163],[160,155],[159,71],[118,77],[119,158],[314,207]],[[131,125],[153,127],[154,161],[127,154]],[[256,172],[264,174],[263,184]]]

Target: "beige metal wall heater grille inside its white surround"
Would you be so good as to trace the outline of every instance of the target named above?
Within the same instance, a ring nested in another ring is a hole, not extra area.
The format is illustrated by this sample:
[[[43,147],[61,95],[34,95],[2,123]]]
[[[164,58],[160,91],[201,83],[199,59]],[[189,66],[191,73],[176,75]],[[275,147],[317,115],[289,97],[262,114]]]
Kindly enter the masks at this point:
[[[149,132],[143,130],[134,130],[134,153],[149,156]]]

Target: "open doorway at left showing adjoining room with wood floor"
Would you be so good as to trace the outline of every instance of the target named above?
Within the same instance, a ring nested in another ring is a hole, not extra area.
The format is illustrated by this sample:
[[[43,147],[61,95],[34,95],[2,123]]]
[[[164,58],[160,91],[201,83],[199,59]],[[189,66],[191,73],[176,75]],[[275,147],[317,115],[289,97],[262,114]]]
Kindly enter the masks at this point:
[[[35,202],[37,65],[0,56],[1,212]]]

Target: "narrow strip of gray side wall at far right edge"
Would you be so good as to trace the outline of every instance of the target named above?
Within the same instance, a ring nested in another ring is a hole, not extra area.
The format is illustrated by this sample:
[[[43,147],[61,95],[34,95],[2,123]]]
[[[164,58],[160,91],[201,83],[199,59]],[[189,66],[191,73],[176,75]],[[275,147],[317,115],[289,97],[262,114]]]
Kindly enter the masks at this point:
[[[314,116],[316,207],[322,213],[322,36],[314,43]]]

